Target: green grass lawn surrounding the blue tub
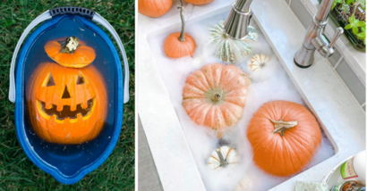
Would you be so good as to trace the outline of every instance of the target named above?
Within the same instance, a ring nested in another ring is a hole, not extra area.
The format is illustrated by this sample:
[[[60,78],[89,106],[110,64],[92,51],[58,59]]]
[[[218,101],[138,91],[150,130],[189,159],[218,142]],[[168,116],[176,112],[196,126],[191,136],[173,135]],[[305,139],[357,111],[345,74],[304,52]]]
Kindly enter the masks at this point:
[[[131,99],[124,104],[124,124],[113,153],[97,170],[68,186],[38,169],[24,154],[15,135],[14,104],[8,100],[8,88],[13,51],[23,30],[42,12],[70,5],[98,12],[120,35],[129,61]],[[134,0],[0,0],[0,190],[134,189],[134,6]]]

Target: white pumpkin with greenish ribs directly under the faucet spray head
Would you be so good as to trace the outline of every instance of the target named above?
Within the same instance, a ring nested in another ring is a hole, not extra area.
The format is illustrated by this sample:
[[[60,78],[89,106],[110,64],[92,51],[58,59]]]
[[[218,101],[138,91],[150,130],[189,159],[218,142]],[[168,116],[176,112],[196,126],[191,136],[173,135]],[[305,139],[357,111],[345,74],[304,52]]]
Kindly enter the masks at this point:
[[[247,42],[256,41],[259,37],[256,29],[249,26],[249,35],[244,40],[234,40],[224,32],[224,22],[210,29],[211,42],[216,46],[215,55],[225,63],[235,62],[241,56],[252,53],[252,47]]]

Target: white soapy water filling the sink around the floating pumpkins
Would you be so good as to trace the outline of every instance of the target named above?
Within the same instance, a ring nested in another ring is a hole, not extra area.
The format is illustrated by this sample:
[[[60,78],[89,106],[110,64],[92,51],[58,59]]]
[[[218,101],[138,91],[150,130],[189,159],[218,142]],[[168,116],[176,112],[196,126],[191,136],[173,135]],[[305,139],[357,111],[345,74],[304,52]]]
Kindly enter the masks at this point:
[[[230,164],[226,168],[210,169],[206,162],[210,154],[218,148],[218,137],[216,137],[212,129],[199,126],[193,122],[182,106],[183,86],[187,76],[193,71],[200,70],[206,64],[220,62],[213,54],[215,47],[209,43],[209,29],[220,21],[226,20],[227,15],[228,12],[196,23],[190,23],[189,21],[186,25],[186,33],[193,37],[197,45],[197,49],[192,57],[170,59],[164,53],[163,43],[166,37],[173,32],[179,31],[180,28],[175,30],[167,29],[164,34],[149,37],[149,46],[155,62],[158,64],[158,70],[171,102],[175,107],[175,112],[183,128],[183,134],[190,146],[193,159],[201,173],[201,179],[207,190],[235,190],[239,184],[242,185],[241,190],[244,191],[269,190],[294,177],[296,174],[285,178],[275,177],[260,170],[255,165],[252,161],[252,147],[246,136],[249,121],[252,119],[253,113],[262,104],[270,101],[286,100],[307,106],[304,104],[303,98],[296,90],[296,87],[294,87],[293,82],[287,76],[283,66],[277,60],[276,54],[272,51],[255,21],[252,21],[251,25],[257,29],[259,38],[256,42],[249,43],[252,46],[252,54],[240,58],[239,62],[235,63],[236,66],[252,78],[252,84],[249,86],[247,101],[243,109],[243,117],[235,127],[227,130],[222,137],[231,147],[235,148],[240,156],[240,162]],[[254,54],[267,54],[270,57],[270,61],[259,71],[251,71],[247,64]],[[323,133],[320,148],[315,152],[312,162],[302,171],[325,161],[334,153],[333,146]]]

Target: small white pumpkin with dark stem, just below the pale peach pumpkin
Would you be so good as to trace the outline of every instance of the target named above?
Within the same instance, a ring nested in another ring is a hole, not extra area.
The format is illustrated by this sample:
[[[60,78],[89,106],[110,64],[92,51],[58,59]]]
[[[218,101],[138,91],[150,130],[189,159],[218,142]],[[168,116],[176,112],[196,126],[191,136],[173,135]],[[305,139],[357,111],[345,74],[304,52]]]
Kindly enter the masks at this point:
[[[213,151],[207,163],[209,168],[217,170],[220,167],[226,168],[229,164],[236,164],[237,162],[239,162],[239,158],[235,149],[225,145]]]

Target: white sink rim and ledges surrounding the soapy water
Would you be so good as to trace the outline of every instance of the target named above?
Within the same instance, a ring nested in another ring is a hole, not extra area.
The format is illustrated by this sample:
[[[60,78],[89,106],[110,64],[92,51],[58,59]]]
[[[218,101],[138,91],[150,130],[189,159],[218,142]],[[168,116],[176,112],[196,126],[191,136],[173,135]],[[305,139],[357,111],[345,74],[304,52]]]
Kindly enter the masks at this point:
[[[188,26],[220,12],[228,12],[230,8],[230,2],[225,0],[216,0],[205,6],[190,5],[186,9],[186,12],[190,12]],[[287,179],[271,190],[294,190],[296,180],[321,182],[339,162],[365,149],[364,112],[354,102],[329,63],[319,54],[315,54],[315,62],[309,69],[300,69],[294,65],[294,54],[302,45],[305,29],[286,5],[286,1],[254,1],[252,11],[253,19],[267,37],[277,59],[335,148],[335,154],[328,160]],[[182,124],[162,81],[158,61],[148,42],[151,37],[180,29],[179,17],[172,15],[171,12],[169,17],[162,19],[139,15],[139,115],[164,189],[205,190],[187,145],[187,137],[183,135]]]

